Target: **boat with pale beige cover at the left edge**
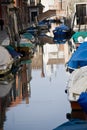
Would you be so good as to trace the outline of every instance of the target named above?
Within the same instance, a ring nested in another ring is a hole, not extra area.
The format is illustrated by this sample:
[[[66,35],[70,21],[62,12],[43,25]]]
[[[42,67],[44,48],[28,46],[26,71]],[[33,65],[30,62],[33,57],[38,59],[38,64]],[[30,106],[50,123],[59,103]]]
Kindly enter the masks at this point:
[[[13,58],[7,49],[0,46],[0,76],[5,75],[11,70]]]

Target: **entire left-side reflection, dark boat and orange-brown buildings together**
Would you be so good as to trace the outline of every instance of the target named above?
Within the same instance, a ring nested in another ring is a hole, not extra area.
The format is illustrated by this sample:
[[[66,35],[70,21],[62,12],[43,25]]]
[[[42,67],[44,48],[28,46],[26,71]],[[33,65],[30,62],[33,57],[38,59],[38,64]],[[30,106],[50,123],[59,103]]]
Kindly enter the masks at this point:
[[[3,130],[8,107],[16,106],[22,101],[29,104],[31,78],[31,63],[22,64],[21,69],[15,74],[0,78],[0,130]]]

